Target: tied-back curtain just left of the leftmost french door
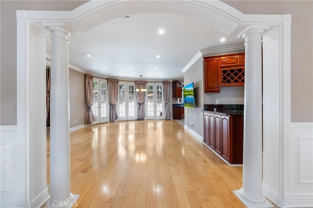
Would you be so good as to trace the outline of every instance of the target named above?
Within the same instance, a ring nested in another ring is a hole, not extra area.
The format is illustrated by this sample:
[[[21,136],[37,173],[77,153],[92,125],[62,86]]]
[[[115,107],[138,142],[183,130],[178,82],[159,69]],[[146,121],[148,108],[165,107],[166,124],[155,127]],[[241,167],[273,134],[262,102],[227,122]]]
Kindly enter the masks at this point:
[[[85,92],[86,92],[86,103],[87,110],[85,115],[85,124],[91,124],[96,120],[92,112],[93,104],[93,76],[86,74],[85,75]]]

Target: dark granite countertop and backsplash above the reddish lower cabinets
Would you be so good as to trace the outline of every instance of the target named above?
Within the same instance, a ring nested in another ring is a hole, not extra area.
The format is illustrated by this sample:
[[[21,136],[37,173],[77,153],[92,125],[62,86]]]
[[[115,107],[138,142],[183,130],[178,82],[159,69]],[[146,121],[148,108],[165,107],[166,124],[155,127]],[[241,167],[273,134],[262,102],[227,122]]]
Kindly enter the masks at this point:
[[[244,115],[244,105],[243,104],[205,104],[203,110],[210,111],[214,113],[219,113],[223,115]]]

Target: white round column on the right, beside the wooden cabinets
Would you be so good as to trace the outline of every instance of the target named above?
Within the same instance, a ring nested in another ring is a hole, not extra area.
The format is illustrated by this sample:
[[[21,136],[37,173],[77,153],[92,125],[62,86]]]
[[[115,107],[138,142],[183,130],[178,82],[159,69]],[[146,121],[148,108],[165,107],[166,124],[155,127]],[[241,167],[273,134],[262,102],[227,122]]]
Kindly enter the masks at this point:
[[[262,34],[251,29],[245,38],[245,111],[243,187],[234,193],[246,207],[272,208],[262,194]]]

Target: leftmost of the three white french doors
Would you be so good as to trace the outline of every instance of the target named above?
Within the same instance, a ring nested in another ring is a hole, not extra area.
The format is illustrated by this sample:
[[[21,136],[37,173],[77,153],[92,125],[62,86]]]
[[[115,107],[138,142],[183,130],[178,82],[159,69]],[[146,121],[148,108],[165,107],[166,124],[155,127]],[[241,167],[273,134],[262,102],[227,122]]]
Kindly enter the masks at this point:
[[[109,121],[109,95],[108,82],[93,79],[93,105],[92,112],[96,120],[92,124]]]

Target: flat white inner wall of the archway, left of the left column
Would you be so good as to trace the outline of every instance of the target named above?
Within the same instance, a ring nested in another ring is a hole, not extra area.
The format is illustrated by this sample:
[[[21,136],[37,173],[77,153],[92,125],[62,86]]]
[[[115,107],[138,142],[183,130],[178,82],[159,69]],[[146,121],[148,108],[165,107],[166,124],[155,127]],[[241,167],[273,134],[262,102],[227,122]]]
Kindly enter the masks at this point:
[[[26,151],[26,158],[29,158],[30,166],[27,169],[26,180],[29,180],[28,186],[30,188],[27,201],[35,205],[37,205],[36,200],[38,198],[47,197],[48,194],[46,179],[46,94],[45,88],[38,87],[38,85],[45,85],[45,37],[45,33],[40,33],[35,26],[30,25],[30,141],[29,153]]]

